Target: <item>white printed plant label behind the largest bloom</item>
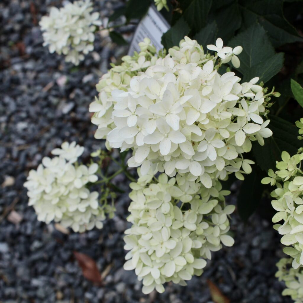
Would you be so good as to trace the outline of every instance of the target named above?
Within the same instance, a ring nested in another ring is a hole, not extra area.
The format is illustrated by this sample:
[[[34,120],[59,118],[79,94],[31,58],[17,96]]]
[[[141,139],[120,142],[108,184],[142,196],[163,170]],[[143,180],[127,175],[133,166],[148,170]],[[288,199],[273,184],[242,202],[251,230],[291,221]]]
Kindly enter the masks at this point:
[[[155,45],[157,51],[163,48],[161,44],[162,35],[170,28],[168,22],[152,5],[147,12],[147,15],[139,23],[132,43],[128,50],[128,55],[134,55],[134,52],[140,52],[138,43],[143,41],[144,38],[150,38],[151,43]]]

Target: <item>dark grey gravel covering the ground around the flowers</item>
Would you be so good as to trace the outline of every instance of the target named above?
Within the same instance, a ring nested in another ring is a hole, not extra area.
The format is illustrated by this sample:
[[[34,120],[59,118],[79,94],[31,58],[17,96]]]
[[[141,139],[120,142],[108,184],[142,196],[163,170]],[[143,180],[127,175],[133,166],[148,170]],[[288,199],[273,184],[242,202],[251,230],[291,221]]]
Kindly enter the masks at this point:
[[[98,37],[95,51],[78,68],[49,54],[37,22],[59,3],[0,3],[0,302],[206,303],[212,302],[207,280],[232,303],[291,302],[281,296],[283,285],[274,277],[275,263],[283,256],[279,237],[258,214],[247,225],[232,216],[235,245],[214,253],[201,277],[187,287],[169,284],[165,293],[149,296],[142,294],[135,273],[123,270],[127,193],[116,201],[117,217],[101,231],[65,234],[37,221],[23,188],[28,171],[63,141],[84,145],[84,160],[102,145],[94,139],[88,105],[109,62],[126,51]],[[119,5],[95,1],[102,17]],[[127,192],[123,175],[114,181]],[[235,203],[235,192],[236,187],[229,203]],[[83,277],[74,251],[96,261],[103,286]]]

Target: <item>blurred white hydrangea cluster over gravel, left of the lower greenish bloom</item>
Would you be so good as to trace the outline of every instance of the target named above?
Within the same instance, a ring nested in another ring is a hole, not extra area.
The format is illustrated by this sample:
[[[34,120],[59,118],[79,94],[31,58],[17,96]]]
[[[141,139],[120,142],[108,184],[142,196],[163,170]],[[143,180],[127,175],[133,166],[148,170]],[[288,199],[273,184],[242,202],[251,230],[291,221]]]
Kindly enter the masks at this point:
[[[98,165],[75,163],[83,151],[76,142],[64,142],[52,151],[56,157],[44,157],[37,170],[29,172],[24,186],[28,205],[34,207],[39,221],[49,224],[54,220],[75,232],[103,227],[105,211],[99,206],[99,194],[86,187],[98,180]]]

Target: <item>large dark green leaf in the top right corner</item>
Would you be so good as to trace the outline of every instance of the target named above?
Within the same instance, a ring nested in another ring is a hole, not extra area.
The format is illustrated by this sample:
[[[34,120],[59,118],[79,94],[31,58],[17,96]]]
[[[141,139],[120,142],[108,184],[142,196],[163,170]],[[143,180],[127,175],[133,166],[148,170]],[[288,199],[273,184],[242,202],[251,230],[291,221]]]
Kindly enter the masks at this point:
[[[268,32],[275,47],[303,41],[296,29],[284,18],[283,0],[242,0],[240,3],[245,25],[258,21]]]

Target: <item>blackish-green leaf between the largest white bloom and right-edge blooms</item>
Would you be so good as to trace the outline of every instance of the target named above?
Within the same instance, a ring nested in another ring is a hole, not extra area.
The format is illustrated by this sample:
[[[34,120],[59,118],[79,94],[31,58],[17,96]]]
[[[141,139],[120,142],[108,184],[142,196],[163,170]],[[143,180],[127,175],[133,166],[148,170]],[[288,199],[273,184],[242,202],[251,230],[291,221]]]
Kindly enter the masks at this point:
[[[294,155],[302,146],[297,138],[298,128],[294,124],[277,116],[268,115],[268,117],[270,119],[268,127],[273,135],[265,139],[264,146],[260,146],[257,142],[252,145],[256,162],[264,171],[275,169],[275,161],[281,161],[282,151]]]

